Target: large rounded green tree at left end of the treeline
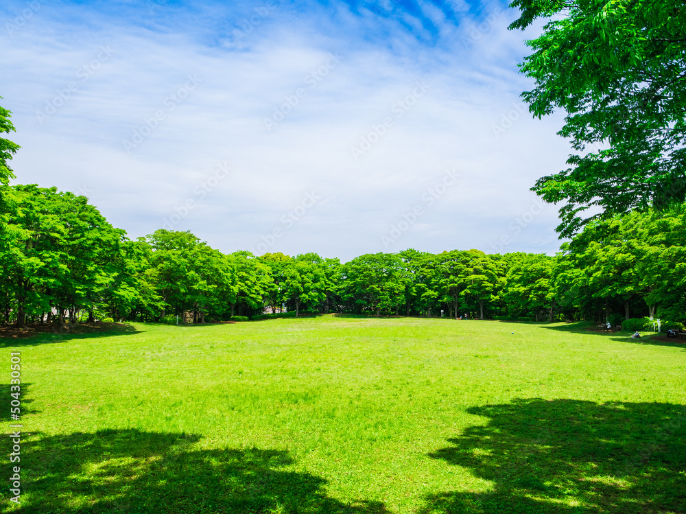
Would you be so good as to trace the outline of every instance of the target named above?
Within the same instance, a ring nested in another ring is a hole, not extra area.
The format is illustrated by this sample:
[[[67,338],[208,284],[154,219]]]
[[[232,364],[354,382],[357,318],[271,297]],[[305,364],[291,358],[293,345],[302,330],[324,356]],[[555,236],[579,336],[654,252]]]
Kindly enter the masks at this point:
[[[99,301],[102,283],[117,273],[125,233],[115,229],[84,196],[56,187],[8,188],[12,216],[9,248],[0,252],[3,280],[14,296],[16,323],[27,314],[58,309],[60,322]]]

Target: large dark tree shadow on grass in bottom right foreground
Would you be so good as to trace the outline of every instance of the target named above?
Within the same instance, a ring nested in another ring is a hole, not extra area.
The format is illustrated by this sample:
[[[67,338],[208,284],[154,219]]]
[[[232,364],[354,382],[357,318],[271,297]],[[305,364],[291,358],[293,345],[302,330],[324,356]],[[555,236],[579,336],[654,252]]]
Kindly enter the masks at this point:
[[[686,512],[686,408],[520,399],[430,454],[493,482],[431,495],[428,513]]]

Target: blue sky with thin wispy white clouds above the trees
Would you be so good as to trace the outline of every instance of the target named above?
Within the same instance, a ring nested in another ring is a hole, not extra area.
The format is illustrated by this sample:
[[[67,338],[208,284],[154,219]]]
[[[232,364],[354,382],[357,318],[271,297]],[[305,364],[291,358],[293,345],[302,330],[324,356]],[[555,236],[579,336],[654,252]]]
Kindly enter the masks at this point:
[[[351,259],[554,253],[562,117],[519,95],[499,1],[5,1],[16,183],[85,194],[130,237]]]

